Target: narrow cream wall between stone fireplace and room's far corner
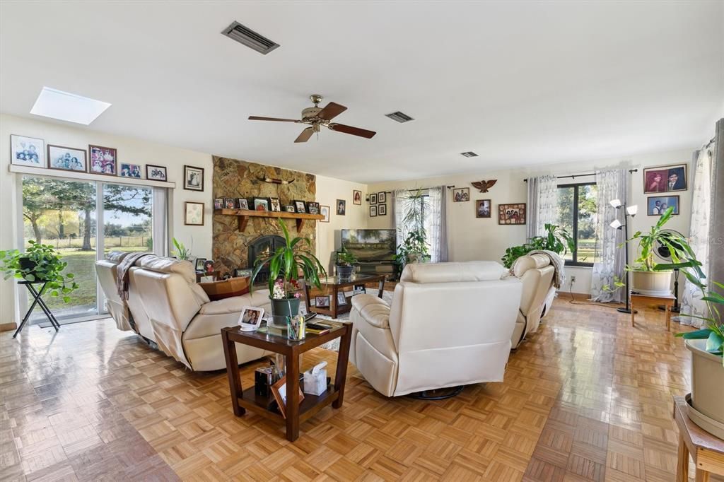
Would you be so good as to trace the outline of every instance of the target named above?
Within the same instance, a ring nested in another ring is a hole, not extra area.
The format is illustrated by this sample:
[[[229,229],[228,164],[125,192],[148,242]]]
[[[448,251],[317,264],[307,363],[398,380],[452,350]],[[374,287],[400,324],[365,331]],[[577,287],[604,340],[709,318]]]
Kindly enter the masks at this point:
[[[322,206],[329,206],[329,223],[317,222],[317,255],[321,263],[332,272],[334,258],[332,253],[341,246],[342,229],[363,229],[367,225],[368,216],[364,198],[366,185],[358,182],[342,181],[332,177],[316,177],[316,199]],[[353,203],[353,190],[362,191],[362,205]],[[347,201],[345,216],[337,216],[335,204],[337,199]]]

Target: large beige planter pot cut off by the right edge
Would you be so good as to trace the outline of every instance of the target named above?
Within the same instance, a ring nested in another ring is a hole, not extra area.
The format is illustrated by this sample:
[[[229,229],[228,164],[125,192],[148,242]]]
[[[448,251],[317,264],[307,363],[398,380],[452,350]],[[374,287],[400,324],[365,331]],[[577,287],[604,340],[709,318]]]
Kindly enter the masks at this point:
[[[724,365],[721,357],[704,350],[705,339],[687,339],[691,352],[689,418],[710,434],[724,439]]]

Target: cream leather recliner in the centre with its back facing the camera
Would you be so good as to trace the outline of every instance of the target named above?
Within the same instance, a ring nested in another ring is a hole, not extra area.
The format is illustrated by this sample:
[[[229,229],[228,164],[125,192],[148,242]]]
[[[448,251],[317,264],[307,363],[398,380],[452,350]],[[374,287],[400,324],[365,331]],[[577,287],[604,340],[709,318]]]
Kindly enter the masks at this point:
[[[494,261],[408,264],[392,306],[352,298],[350,361],[387,397],[502,381],[522,287]]]

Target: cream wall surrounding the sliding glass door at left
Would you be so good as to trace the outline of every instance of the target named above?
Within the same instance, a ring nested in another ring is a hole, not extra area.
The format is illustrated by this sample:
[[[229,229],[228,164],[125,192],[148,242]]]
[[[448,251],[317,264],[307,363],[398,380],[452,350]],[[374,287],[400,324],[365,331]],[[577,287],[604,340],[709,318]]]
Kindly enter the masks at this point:
[[[10,135],[27,135],[45,140],[50,144],[67,145],[88,149],[88,144],[106,145],[118,149],[118,158],[122,162],[134,164],[156,164],[167,167],[169,181],[176,182],[173,190],[172,235],[190,246],[193,240],[193,254],[204,258],[211,257],[211,155],[168,145],[150,143],[145,140],[104,134],[84,127],[71,127],[60,122],[42,122],[36,119],[14,117],[0,114],[0,249],[18,248],[17,246],[17,196],[15,177],[20,174],[8,172],[10,162]],[[202,167],[204,171],[203,192],[183,189],[183,166]],[[145,176],[145,169],[144,169]],[[185,201],[197,201],[206,204],[205,224],[203,226],[185,226],[183,224],[183,208]],[[0,313],[1,322],[8,322],[7,316],[15,313],[17,308],[13,282],[0,280]]]

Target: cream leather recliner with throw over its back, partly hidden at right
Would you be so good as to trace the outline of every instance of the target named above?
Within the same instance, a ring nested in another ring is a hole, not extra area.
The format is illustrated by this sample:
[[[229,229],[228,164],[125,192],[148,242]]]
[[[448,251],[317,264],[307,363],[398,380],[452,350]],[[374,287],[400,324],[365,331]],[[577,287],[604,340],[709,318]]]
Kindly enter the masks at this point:
[[[524,255],[513,263],[513,276],[523,282],[521,306],[510,339],[513,348],[517,348],[528,334],[535,333],[541,318],[550,312],[555,298],[554,275],[555,268],[546,255]]]

